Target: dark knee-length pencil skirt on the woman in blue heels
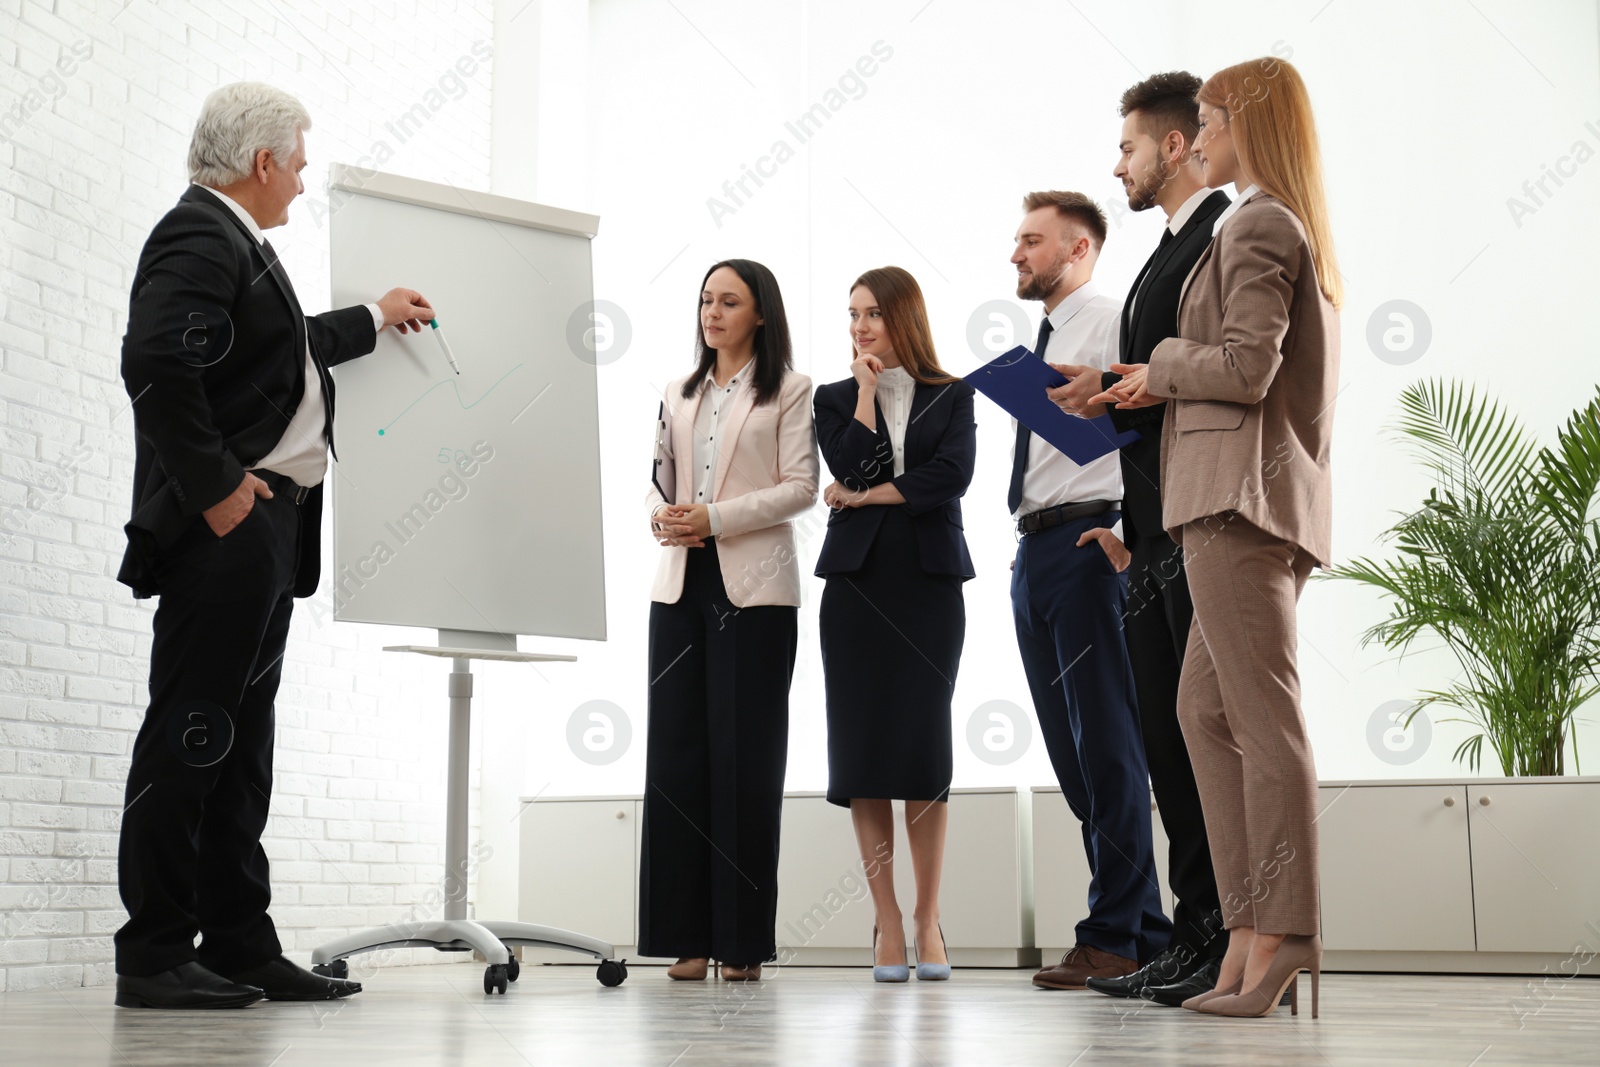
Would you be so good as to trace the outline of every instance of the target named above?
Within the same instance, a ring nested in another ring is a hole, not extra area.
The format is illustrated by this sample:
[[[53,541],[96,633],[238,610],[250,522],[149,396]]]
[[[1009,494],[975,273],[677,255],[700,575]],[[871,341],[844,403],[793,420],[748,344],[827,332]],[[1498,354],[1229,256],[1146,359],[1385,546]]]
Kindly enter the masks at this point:
[[[829,574],[819,629],[827,689],[827,800],[947,800],[950,697],[966,637],[962,579],[922,569],[901,507],[859,571]]]

